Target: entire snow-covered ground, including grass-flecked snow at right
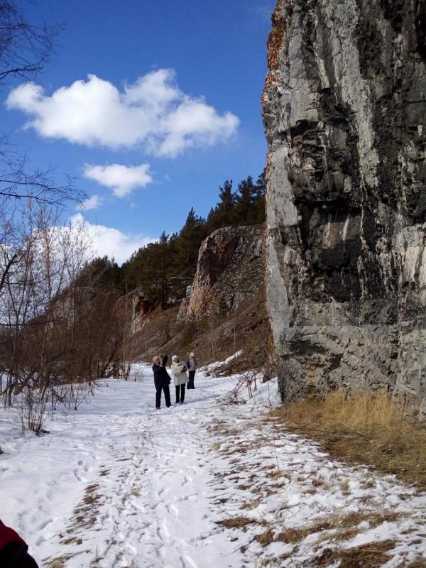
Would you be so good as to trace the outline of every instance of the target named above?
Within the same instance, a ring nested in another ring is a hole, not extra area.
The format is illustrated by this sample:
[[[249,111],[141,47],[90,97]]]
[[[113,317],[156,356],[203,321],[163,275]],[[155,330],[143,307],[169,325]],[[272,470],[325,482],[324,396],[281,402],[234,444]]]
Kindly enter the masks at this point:
[[[275,381],[225,405],[239,377],[197,373],[184,405],[155,410],[151,367],[133,377],[52,415],[44,437],[0,413],[0,518],[40,567],[308,567],[370,542],[388,543],[388,568],[426,559],[426,496],[264,420]]]

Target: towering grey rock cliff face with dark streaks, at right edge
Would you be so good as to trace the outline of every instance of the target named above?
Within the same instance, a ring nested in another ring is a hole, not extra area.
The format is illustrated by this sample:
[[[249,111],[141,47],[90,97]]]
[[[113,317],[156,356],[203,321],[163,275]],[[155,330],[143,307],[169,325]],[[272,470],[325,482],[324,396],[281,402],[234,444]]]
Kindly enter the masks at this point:
[[[425,0],[278,0],[263,92],[268,310],[285,400],[426,413]]]

